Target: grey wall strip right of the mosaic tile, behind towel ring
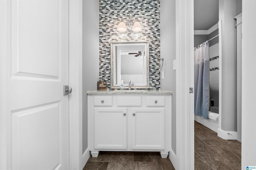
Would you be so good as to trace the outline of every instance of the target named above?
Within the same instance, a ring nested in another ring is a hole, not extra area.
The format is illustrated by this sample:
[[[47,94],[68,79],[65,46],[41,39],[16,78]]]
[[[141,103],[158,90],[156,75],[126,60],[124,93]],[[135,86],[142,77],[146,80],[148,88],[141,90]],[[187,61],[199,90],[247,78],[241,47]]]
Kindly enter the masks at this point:
[[[166,67],[161,70],[161,89],[172,91],[172,150],[176,152],[175,0],[160,0],[160,51]],[[164,71],[164,79],[162,79]]]

